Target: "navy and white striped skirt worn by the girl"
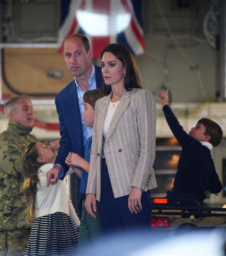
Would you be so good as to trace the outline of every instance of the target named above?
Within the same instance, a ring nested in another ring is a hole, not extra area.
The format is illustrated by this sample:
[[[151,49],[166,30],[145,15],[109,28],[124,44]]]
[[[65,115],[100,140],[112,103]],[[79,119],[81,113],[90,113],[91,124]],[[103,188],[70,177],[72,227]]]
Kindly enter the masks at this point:
[[[45,215],[33,222],[25,255],[75,255],[78,240],[71,216],[59,212]]]

